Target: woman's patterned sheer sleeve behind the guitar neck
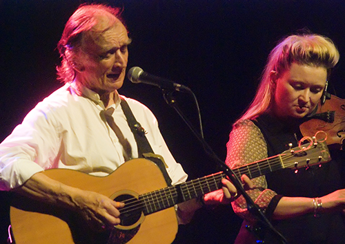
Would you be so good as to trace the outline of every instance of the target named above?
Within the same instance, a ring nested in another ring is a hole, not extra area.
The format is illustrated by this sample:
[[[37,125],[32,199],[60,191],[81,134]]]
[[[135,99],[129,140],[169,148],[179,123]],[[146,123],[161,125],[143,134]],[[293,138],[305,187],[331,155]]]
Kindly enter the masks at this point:
[[[267,158],[267,145],[264,135],[260,129],[250,120],[237,122],[229,135],[229,141],[226,144],[227,156],[226,164],[230,168],[246,165],[250,162]],[[275,191],[267,189],[265,176],[259,176],[252,179],[254,188],[247,191],[250,198],[265,212],[270,201],[277,195]],[[240,196],[233,203],[234,212],[246,218],[253,220],[247,209],[246,200]]]

